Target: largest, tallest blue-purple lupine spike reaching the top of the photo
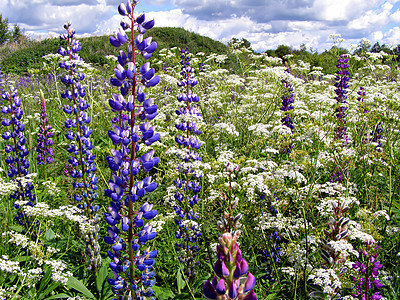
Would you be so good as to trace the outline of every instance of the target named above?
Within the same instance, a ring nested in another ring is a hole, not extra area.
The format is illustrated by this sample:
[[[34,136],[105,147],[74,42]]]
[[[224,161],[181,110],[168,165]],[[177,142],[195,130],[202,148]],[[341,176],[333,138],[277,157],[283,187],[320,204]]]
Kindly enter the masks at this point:
[[[151,286],[156,282],[151,269],[157,250],[150,250],[145,244],[156,237],[146,220],[153,219],[157,211],[140,198],[157,187],[146,174],[158,164],[159,158],[154,157],[154,150],[140,153],[140,147],[150,146],[160,138],[149,122],[156,117],[158,106],[153,98],[146,99],[144,93],[145,88],[157,85],[160,77],[150,68],[150,62],[137,66],[139,54],[147,60],[157,48],[151,37],[143,38],[146,30],[154,26],[154,20],[146,21],[144,13],[135,15],[137,4],[138,1],[128,1],[118,6],[119,14],[126,20],[120,23],[115,37],[110,37],[114,47],[127,46],[125,51],[119,51],[115,77],[110,80],[119,89],[119,94],[109,99],[118,118],[113,119],[112,130],[108,132],[116,149],[107,157],[112,179],[105,190],[111,202],[105,214],[109,235],[104,240],[112,245],[107,253],[114,274],[108,282],[117,299],[154,299]]]

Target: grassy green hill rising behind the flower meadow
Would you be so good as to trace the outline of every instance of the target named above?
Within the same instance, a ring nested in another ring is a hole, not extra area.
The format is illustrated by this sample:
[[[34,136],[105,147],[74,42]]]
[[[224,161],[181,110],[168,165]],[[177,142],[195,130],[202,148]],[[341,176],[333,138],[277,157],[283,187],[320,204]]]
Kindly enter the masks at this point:
[[[201,36],[183,28],[155,27],[146,33],[153,36],[158,44],[158,50],[163,48],[186,48],[190,52],[211,52],[226,53],[228,47],[221,42]],[[116,55],[117,52],[110,45],[109,36],[93,36],[79,38],[82,50],[79,52],[84,61],[103,65],[107,62],[106,55]],[[50,53],[57,53],[63,42],[59,38],[44,39],[42,41],[27,41],[22,45],[3,46],[0,49],[0,64],[4,73],[26,73],[29,68],[42,65],[43,56]],[[157,55],[157,54],[155,54]]]

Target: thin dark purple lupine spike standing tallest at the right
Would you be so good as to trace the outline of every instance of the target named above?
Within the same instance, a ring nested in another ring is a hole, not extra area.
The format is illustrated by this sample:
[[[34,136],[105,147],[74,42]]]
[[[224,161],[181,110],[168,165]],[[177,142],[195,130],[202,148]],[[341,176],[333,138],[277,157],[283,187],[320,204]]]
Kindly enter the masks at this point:
[[[349,88],[349,80],[350,80],[350,72],[348,71],[349,68],[349,59],[347,58],[346,54],[340,55],[338,59],[338,64],[336,67],[338,70],[336,71],[336,83],[335,83],[335,93],[336,93],[336,102],[338,108],[336,108],[336,118],[338,125],[335,128],[336,139],[342,140],[344,146],[348,146],[348,136],[347,136],[347,127],[346,127],[346,110],[347,110],[347,93]]]

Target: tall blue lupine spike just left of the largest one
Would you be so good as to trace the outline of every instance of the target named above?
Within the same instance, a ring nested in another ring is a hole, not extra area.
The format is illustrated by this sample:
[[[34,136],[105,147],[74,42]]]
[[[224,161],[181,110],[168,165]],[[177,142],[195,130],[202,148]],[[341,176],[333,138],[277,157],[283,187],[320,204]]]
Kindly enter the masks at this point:
[[[78,70],[79,65],[83,62],[78,54],[81,44],[74,39],[75,29],[71,27],[71,23],[66,23],[64,28],[67,33],[61,35],[60,38],[67,42],[67,47],[66,49],[61,47],[58,53],[63,56],[59,66],[65,70],[61,81],[66,89],[61,93],[61,97],[69,101],[69,104],[64,105],[63,108],[63,111],[70,115],[64,122],[65,127],[69,129],[65,137],[71,141],[67,147],[67,151],[71,154],[68,162],[72,166],[74,198],[78,202],[78,208],[82,209],[88,218],[88,230],[83,233],[86,243],[85,254],[89,261],[88,269],[96,272],[101,266],[98,243],[100,227],[97,214],[99,207],[94,205],[94,200],[97,198],[98,177],[94,174],[96,171],[95,155],[92,154],[93,145],[90,140],[92,130],[88,126],[90,116],[85,112],[89,104],[84,98],[86,89],[81,84],[85,75]]]

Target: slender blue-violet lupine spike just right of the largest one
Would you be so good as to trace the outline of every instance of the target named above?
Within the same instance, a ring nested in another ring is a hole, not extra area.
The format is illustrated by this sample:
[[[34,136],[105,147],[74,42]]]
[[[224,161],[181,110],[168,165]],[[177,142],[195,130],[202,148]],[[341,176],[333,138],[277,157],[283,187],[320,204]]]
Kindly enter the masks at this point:
[[[191,162],[201,160],[199,154],[195,152],[201,147],[201,142],[196,137],[201,133],[196,127],[196,119],[200,116],[200,113],[194,106],[200,98],[190,91],[190,88],[194,87],[198,81],[194,77],[194,69],[190,66],[188,48],[181,50],[180,63],[181,80],[178,82],[178,86],[183,88],[184,92],[178,95],[177,99],[183,106],[176,111],[178,120],[175,122],[175,127],[182,131],[183,135],[177,135],[175,141],[183,150],[182,154],[178,155],[183,163],[179,163],[177,167],[179,178],[175,181],[178,189],[175,199],[178,204],[174,209],[177,214],[175,223],[179,227],[175,231],[175,236],[181,242],[177,242],[175,248],[180,262],[184,265],[184,274],[191,281],[195,276],[195,266],[198,264],[196,256],[200,249],[197,246],[197,241],[201,235],[200,228],[195,223],[199,216],[193,210],[193,206],[200,200],[201,185],[198,180],[201,176],[190,166]]]

